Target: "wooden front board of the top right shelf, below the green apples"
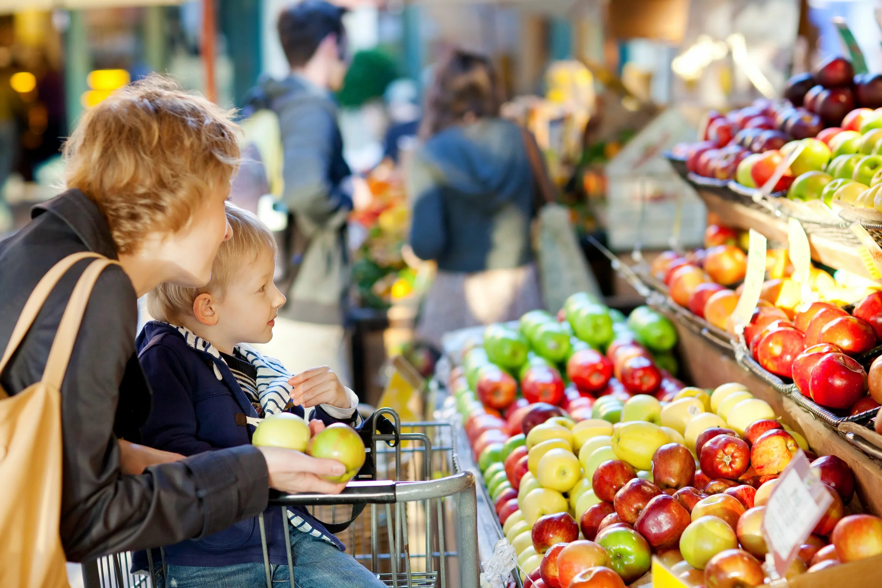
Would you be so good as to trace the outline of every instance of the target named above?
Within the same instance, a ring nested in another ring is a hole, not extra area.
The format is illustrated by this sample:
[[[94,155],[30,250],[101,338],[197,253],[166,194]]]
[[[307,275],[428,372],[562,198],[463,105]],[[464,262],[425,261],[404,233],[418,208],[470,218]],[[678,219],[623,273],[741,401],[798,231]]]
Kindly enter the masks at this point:
[[[788,242],[788,227],[785,220],[737,202],[724,200],[707,190],[697,191],[707,206],[707,212],[718,214],[730,227],[744,230],[752,228],[764,234],[766,239]],[[872,279],[856,248],[835,242],[820,234],[809,234],[809,244],[811,258],[818,263],[832,267],[834,270],[846,270],[863,278]]]

